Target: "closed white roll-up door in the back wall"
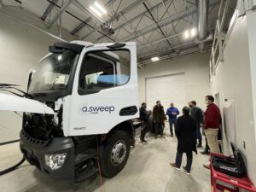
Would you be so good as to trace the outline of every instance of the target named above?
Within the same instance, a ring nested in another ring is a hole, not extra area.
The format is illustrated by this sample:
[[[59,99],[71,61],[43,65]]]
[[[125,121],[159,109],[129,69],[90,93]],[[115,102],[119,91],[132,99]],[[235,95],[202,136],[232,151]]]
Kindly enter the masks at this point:
[[[187,104],[185,101],[184,73],[146,79],[146,102],[148,110],[152,110],[155,102],[160,101],[166,109],[173,102],[181,113]]]

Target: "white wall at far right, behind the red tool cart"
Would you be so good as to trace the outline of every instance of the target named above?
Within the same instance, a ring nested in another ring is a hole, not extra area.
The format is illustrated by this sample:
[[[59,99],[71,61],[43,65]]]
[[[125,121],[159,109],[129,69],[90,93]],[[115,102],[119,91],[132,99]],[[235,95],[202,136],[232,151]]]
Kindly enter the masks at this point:
[[[251,78],[251,73],[253,75],[256,73],[251,71],[251,65],[255,67],[256,40],[254,37],[248,37],[248,26],[255,27],[256,13],[253,13],[253,16],[254,19],[250,22],[247,16],[236,20],[230,39],[224,48],[224,61],[218,63],[211,87],[213,94],[219,93],[223,100],[226,98],[235,103],[236,145],[246,157],[248,174],[256,184],[256,145],[253,124],[253,100],[255,103],[256,98],[252,96]],[[255,36],[255,29],[253,35]],[[254,48],[249,49],[249,44],[253,44]],[[246,148],[243,148],[244,142]],[[229,151],[224,153],[229,154]]]

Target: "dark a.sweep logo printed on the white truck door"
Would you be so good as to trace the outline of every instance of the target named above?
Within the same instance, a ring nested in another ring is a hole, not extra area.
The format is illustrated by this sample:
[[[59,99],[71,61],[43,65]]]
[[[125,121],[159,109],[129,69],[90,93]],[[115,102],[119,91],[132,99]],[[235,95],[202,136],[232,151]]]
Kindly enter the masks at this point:
[[[82,105],[80,108],[81,113],[86,113],[86,114],[98,114],[98,113],[113,113],[114,107],[113,106],[87,106],[87,105]]]

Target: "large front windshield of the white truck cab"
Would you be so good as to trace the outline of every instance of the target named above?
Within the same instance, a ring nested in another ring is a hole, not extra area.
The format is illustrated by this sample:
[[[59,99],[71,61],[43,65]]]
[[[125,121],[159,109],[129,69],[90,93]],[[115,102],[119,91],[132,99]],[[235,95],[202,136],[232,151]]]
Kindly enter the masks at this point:
[[[66,89],[75,57],[73,51],[65,50],[44,58],[35,68],[29,92]]]

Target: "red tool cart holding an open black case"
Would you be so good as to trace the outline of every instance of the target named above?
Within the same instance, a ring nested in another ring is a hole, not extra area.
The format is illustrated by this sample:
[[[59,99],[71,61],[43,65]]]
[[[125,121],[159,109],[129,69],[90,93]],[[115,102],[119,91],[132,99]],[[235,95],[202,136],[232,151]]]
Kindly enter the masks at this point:
[[[231,146],[234,158],[211,153],[212,192],[239,192],[240,189],[256,192],[256,188],[247,177],[240,152],[234,147],[236,146],[234,143],[231,143]]]

